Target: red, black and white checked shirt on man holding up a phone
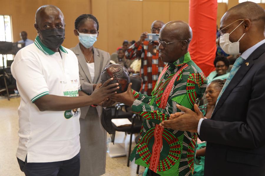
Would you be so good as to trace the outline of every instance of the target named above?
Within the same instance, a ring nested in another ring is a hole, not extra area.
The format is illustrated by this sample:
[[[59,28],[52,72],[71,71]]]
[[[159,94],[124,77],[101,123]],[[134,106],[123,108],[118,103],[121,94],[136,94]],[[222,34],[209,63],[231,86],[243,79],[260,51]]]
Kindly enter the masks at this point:
[[[165,66],[165,63],[159,58],[158,45],[149,41],[144,41],[141,44],[134,43],[127,49],[125,57],[126,59],[141,57],[140,75],[143,79],[141,92],[151,95],[158,76]]]

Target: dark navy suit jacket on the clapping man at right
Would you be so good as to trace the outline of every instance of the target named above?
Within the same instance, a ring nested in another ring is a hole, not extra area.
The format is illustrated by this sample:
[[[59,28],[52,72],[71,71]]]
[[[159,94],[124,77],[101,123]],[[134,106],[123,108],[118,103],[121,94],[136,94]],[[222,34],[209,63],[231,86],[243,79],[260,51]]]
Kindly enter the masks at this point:
[[[243,62],[211,119],[201,123],[207,141],[205,176],[265,176],[265,43]]]

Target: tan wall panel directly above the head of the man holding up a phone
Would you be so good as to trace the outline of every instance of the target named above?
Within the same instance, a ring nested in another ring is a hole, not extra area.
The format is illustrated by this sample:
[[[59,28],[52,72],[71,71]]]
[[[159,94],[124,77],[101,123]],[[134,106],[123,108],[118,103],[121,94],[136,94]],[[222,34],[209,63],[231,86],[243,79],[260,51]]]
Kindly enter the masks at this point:
[[[169,22],[169,5],[163,1],[143,1],[143,31],[151,32],[151,24],[155,20]]]

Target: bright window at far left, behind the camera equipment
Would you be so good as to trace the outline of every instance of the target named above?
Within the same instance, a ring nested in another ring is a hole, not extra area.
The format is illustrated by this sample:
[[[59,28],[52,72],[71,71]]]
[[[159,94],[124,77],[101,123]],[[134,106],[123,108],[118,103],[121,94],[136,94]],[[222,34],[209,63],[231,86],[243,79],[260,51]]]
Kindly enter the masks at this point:
[[[0,15],[0,41],[12,42],[11,18],[9,15]],[[0,66],[3,66],[2,55],[0,54]],[[13,55],[4,55],[4,65],[6,60],[13,60]]]

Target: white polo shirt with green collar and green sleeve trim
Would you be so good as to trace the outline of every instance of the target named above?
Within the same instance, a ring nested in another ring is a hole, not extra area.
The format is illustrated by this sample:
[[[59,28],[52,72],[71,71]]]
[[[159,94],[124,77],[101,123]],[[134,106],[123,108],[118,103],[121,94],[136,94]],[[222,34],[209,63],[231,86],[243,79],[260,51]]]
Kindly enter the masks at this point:
[[[16,54],[11,72],[21,96],[19,146],[16,157],[28,163],[69,160],[80,151],[80,109],[39,111],[38,98],[53,94],[76,97],[80,89],[78,61],[62,46],[53,52],[37,36]]]

